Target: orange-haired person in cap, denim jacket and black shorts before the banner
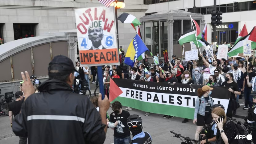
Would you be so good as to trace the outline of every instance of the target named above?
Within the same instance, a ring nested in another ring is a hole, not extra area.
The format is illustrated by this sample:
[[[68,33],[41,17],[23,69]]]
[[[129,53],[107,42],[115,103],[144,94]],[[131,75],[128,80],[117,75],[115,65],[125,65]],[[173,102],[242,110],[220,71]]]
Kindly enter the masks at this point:
[[[197,90],[198,98],[196,98],[195,113],[193,124],[196,123],[195,139],[198,140],[200,131],[204,125],[212,122],[211,106],[213,106],[213,99],[210,96],[213,88],[210,86],[203,86]]]

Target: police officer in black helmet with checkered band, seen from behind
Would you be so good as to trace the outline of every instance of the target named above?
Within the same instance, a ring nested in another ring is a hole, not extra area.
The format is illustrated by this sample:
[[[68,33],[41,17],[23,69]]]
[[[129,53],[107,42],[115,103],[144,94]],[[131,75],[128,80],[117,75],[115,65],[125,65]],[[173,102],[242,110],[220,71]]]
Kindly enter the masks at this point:
[[[137,114],[130,115],[127,118],[127,125],[132,133],[133,139],[130,144],[151,144],[152,138],[149,133],[142,131],[142,119]]]

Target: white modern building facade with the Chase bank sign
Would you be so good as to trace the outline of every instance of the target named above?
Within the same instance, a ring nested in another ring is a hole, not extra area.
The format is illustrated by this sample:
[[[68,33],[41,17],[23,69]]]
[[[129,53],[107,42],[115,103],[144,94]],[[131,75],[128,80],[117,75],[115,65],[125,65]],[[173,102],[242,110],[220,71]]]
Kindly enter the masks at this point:
[[[238,8],[234,9],[233,3],[238,2]],[[185,10],[193,12],[193,0],[144,0],[148,5],[146,15],[163,10]],[[204,14],[207,23],[207,41],[212,42],[213,27],[211,26],[211,11],[213,0],[196,0],[196,12]],[[256,25],[256,1],[251,0],[217,0],[217,10],[223,12],[223,24],[217,26],[217,43],[235,42],[238,34],[246,24],[248,33]]]

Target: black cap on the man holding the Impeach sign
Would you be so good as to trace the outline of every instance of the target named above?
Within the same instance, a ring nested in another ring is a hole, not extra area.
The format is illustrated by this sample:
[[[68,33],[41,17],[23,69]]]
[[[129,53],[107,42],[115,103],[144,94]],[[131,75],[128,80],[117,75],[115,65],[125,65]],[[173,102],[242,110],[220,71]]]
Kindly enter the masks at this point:
[[[57,70],[56,73],[51,73],[51,70]],[[74,64],[71,59],[64,55],[55,56],[48,66],[48,75],[55,76],[70,74],[74,71]]]

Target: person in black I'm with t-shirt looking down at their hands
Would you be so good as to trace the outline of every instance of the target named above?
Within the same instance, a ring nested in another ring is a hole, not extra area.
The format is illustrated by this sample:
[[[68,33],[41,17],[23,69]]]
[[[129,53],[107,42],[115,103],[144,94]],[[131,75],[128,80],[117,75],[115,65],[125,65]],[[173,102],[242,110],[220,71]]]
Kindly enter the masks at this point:
[[[113,102],[112,112],[109,122],[114,123],[114,144],[129,144],[131,142],[130,130],[127,125],[127,118],[130,113],[122,110],[122,104],[118,101]]]

